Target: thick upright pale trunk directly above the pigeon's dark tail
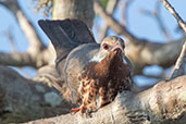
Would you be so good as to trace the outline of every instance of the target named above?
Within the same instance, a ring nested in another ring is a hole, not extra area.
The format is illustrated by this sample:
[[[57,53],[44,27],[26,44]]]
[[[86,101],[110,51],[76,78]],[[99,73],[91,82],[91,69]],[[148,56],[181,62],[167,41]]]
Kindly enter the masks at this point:
[[[91,27],[95,16],[92,4],[94,0],[54,0],[52,18],[78,18]]]

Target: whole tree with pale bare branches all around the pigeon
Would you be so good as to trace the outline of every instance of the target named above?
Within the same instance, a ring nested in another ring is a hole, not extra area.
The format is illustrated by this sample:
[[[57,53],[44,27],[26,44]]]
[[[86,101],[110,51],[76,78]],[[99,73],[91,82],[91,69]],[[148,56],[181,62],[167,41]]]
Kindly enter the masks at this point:
[[[144,75],[164,79],[162,75],[145,75],[142,71],[146,66],[154,64],[168,69],[177,61],[170,79],[162,80],[147,90],[145,88],[141,92],[138,92],[141,90],[138,88],[136,89],[138,90],[136,91],[137,94],[123,92],[115,98],[114,102],[94,113],[94,117],[91,119],[82,119],[78,113],[75,115],[66,114],[74,104],[70,101],[69,89],[64,84],[64,77],[60,76],[55,71],[55,52],[52,45],[50,44],[48,47],[44,45],[40,36],[32,22],[26,17],[17,0],[0,1],[0,4],[5,7],[16,18],[29,42],[29,47],[25,53],[0,52],[0,123],[28,122],[42,117],[50,119],[29,122],[29,124],[185,123],[185,36],[178,41],[170,41],[172,38],[170,38],[160,17],[154,14],[160,29],[162,29],[169,42],[158,44],[139,39],[126,28],[128,5],[132,1],[125,1],[123,5],[124,16],[121,17],[121,21],[113,17],[113,13],[119,8],[119,2],[121,2],[119,0],[110,0],[106,9],[99,0],[37,1],[38,5],[36,8],[38,10],[45,10],[48,14],[52,14],[52,20],[78,18],[91,28],[95,12],[104,18],[106,25],[100,30],[100,39],[107,35],[109,28],[112,28],[115,34],[126,37],[128,41],[126,55],[133,63],[134,76]],[[182,17],[166,0],[161,1],[185,32],[186,26]],[[63,60],[64,63],[65,59]],[[38,73],[34,79],[27,79],[5,65],[33,66]],[[61,95],[52,86],[60,89]],[[59,114],[65,115],[57,116]]]

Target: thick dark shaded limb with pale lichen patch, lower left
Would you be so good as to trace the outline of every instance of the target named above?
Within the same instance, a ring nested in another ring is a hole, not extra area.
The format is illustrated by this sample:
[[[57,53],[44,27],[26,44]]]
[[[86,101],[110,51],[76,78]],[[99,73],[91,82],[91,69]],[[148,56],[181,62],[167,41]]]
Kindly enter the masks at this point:
[[[1,124],[55,116],[69,113],[71,107],[54,88],[0,66]]]

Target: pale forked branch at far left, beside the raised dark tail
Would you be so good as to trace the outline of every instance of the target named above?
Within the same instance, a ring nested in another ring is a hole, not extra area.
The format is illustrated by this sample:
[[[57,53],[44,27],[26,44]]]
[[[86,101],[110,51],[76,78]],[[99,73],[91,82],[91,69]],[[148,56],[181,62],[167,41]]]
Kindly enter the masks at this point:
[[[26,53],[0,53],[0,63],[3,65],[40,67],[52,60],[52,55],[48,55],[49,51],[40,40],[34,25],[28,21],[26,15],[21,10],[17,0],[5,0],[1,2],[15,16],[21,29],[29,41],[29,47]]]

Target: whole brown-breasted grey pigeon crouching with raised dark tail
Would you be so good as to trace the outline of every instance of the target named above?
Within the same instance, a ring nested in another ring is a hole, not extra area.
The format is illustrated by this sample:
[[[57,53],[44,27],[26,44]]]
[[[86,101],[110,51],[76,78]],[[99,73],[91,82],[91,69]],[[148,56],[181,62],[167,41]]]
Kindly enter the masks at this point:
[[[72,103],[79,106],[72,109],[72,113],[91,113],[113,101],[117,92],[131,90],[133,69],[129,59],[125,57],[122,38],[108,36],[97,44],[87,25],[74,18],[40,20],[38,24],[55,49],[55,70],[65,79]],[[104,74],[103,77],[96,76],[99,71]],[[96,92],[91,97],[94,90]]]

